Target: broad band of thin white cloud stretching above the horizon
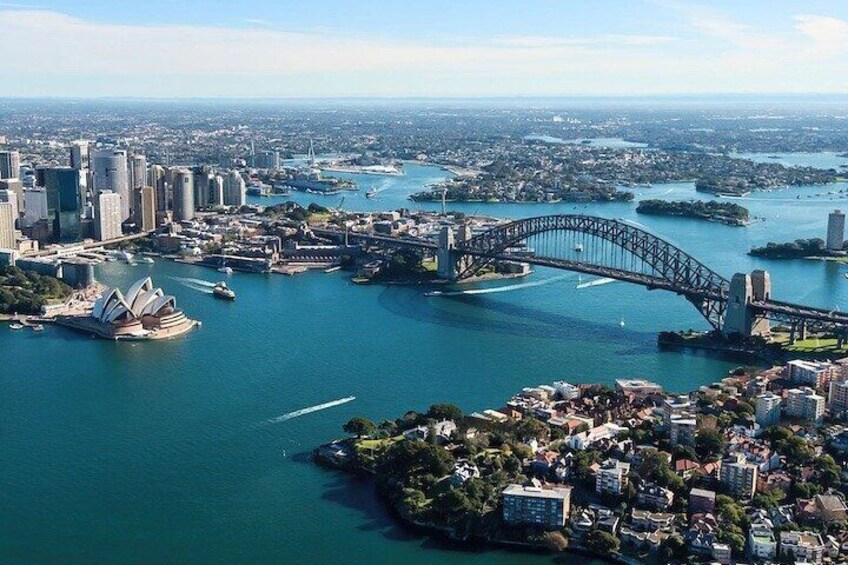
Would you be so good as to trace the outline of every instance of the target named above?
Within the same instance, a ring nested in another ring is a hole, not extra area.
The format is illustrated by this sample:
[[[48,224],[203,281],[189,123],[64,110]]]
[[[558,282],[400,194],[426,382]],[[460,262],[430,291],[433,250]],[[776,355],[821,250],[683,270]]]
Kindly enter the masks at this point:
[[[682,10],[700,32],[419,39],[241,25],[119,25],[1,10],[0,96],[556,96],[845,92],[844,24],[798,16],[791,37]],[[249,25],[244,25],[249,24]],[[721,41],[715,41],[715,38]],[[808,45],[810,49],[787,49]],[[776,47],[776,46],[779,46]]]

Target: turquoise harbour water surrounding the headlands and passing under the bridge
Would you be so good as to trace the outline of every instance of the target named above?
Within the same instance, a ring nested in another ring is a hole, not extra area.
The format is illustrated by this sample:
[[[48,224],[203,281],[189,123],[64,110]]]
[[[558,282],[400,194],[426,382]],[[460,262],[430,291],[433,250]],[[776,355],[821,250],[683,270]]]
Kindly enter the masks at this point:
[[[406,194],[443,175],[410,165],[405,177],[356,177],[364,188],[384,188],[381,198],[350,195],[344,206],[408,206]],[[765,220],[744,229],[643,217],[634,204],[451,208],[627,218],[727,276],[766,267],[777,297],[830,307],[848,305],[842,267],[767,263],[744,252],[767,240],[822,236],[827,212],[839,205],[826,194],[835,187],[752,198],[746,205]],[[642,193],[698,197],[691,183]],[[809,193],[823,195],[795,199]],[[236,274],[229,282],[238,299],[226,303],[188,280],[223,276],[200,267],[157,260],[106,263],[98,272],[122,287],[146,274],[203,327],[138,344],[53,327],[40,335],[0,328],[0,561],[551,563],[412,535],[392,523],[367,484],[319,469],[307,454],[357,414],[379,420],[438,401],[480,410],[559,379],[642,376],[689,390],[734,366],[657,351],[658,331],[705,323],[679,297],[622,283],[576,290],[570,278],[427,298],[418,288],[355,286],[342,273]],[[560,276],[540,270],[533,279]],[[268,422],[347,396],[356,400]]]

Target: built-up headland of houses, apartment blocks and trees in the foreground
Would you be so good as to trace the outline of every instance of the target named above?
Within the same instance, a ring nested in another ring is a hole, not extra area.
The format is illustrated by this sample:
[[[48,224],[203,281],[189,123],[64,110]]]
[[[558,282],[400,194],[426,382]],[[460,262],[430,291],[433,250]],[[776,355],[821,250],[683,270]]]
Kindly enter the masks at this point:
[[[357,416],[313,455],[372,480],[403,524],[459,543],[627,564],[839,562],[846,366],[740,367],[688,394],[557,381],[471,414]]]

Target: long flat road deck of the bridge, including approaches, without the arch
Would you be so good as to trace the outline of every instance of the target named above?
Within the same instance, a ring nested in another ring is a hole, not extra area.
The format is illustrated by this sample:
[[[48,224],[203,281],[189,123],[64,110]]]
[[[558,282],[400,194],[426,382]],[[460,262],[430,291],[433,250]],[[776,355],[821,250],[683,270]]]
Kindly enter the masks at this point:
[[[314,228],[313,233],[323,237],[344,238],[345,232],[340,230],[330,230],[326,228]],[[348,232],[348,241],[364,241],[370,244],[385,245],[387,247],[412,247],[417,249],[426,249],[429,251],[438,251],[438,245],[424,239],[413,237],[394,237],[378,234],[363,234],[356,232]],[[686,297],[690,302],[717,302],[726,303],[727,290],[719,287],[690,287],[681,284],[681,282],[672,282],[659,277],[646,275],[638,272],[625,271],[614,267],[605,267],[602,265],[593,265],[582,261],[572,261],[569,259],[557,259],[550,257],[538,257],[530,255],[519,255],[510,253],[480,253],[474,251],[466,251],[458,247],[457,253],[473,255],[483,259],[500,260],[500,261],[515,261],[530,263],[540,267],[551,267],[554,269],[563,269],[587,275],[595,275],[599,277],[611,278],[623,282],[638,284],[648,288],[649,290],[665,290],[673,292],[677,295]],[[768,315],[774,320],[780,320],[796,323],[819,323],[831,327],[839,327],[843,330],[848,330],[848,313],[838,310],[826,310],[824,308],[814,308],[801,304],[793,304],[779,300],[756,300],[750,303],[750,308],[758,315]]]

